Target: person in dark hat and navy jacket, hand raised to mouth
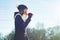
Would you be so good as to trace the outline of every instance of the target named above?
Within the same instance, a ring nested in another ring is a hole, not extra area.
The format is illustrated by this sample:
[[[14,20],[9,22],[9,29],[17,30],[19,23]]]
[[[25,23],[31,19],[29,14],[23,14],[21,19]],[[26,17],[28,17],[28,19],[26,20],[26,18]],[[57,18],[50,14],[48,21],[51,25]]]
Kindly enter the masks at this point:
[[[28,8],[25,5],[19,5],[19,12],[14,13],[15,17],[15,36],[14,40],[25,40],[25,28],[31,21],[32,13],[27,13]]]

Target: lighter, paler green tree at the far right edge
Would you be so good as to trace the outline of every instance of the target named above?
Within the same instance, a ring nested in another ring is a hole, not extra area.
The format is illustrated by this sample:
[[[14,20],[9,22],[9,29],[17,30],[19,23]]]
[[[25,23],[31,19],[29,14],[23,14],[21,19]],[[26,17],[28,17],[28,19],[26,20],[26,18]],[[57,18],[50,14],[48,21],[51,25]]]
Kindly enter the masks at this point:
[[[55,26],[53,28],[48,29],[50,33],[48,33],[47,38],[49,40],[60,40],[60,26]]]

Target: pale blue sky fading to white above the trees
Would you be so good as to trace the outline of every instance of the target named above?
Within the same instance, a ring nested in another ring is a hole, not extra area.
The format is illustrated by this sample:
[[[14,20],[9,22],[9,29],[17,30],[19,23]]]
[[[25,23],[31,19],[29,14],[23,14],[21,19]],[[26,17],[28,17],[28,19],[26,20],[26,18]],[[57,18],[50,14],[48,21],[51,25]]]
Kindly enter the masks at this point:
[[[17,5],[24,4],[33,17],[28,26],[36,27],[39,22],[44,28],[60,25],[60,0],[0,0],[0,33],[6,35],[14,27],[14,12]]]

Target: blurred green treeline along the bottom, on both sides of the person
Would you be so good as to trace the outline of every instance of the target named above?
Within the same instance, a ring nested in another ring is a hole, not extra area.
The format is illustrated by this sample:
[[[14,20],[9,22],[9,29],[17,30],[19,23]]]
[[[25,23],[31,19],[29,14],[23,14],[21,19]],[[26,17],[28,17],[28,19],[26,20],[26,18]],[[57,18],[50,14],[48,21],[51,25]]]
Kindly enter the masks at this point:
[[[0,40],[13,40],[15,32],[12,31],[10,34],[3,37],[0,33]],[[25,36],[28,40],[60,40],[60,26],[45,29],[30,29],[27,28]]]

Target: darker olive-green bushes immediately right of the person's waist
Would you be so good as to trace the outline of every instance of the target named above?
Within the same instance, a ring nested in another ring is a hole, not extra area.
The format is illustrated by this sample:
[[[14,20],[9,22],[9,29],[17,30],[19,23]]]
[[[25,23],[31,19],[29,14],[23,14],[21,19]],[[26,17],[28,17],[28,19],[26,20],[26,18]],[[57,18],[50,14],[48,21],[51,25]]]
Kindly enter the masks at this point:
[[[29,40],[45,40],[45,30],[27,29],[27,37]]]

